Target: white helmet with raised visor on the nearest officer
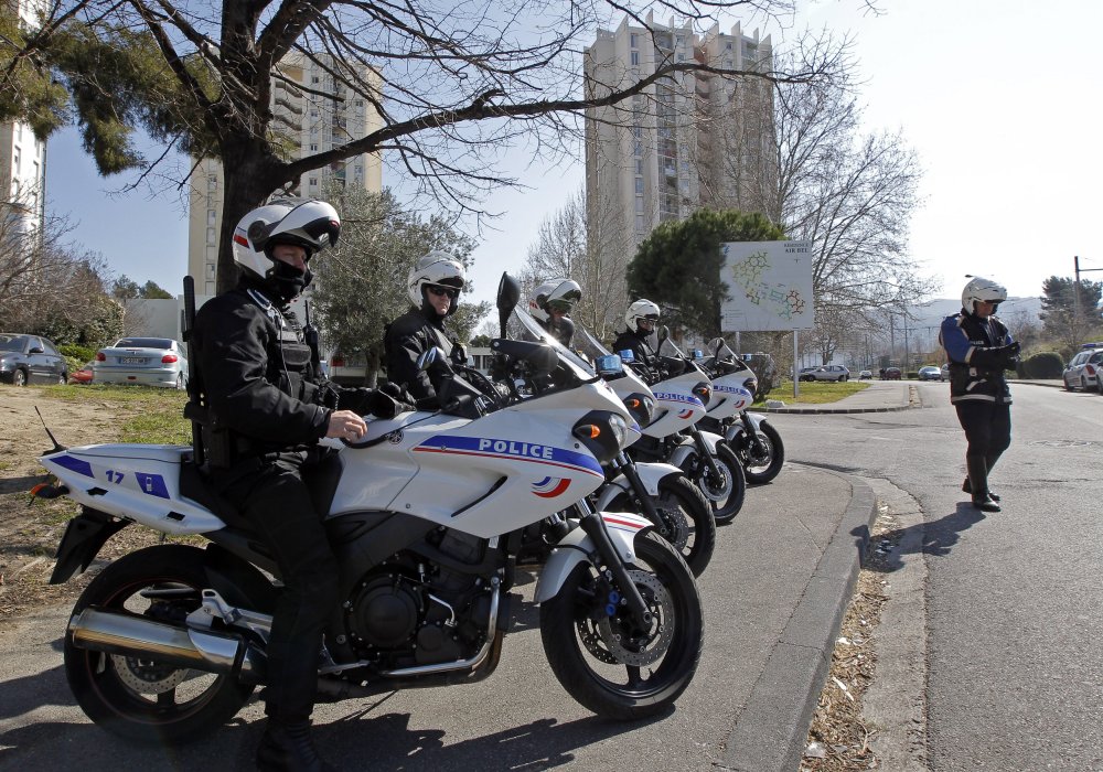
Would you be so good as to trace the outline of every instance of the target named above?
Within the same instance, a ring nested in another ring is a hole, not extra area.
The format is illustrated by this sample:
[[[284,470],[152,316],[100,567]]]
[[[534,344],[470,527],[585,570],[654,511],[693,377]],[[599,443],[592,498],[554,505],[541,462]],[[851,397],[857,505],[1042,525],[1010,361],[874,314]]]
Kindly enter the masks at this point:
[[[234,262],[289,302],[310,283],[311,272],[308,268],[300,274],[272,259],[272,249],[280,244],[302,247],[309,262],[318,251],[335,245],[340,235],[341,217],[324,201],[277,199],[249,212],[234,228]]]

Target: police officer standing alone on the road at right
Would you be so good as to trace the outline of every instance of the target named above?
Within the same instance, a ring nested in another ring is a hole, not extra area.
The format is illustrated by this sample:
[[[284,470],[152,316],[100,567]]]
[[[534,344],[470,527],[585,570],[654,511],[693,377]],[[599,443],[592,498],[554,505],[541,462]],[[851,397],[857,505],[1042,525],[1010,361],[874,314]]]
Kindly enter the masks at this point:
[[[983,512],[999,512],[988,474],[1011,443],[1011,395],[1004,371],[1015,369],[1019,344],[995,315],[1006,299],[1000,285],[973,278],[962,291],[961,313],[946,317],[939,333],[950,360],[950,401],[968,441],[962,491]]]

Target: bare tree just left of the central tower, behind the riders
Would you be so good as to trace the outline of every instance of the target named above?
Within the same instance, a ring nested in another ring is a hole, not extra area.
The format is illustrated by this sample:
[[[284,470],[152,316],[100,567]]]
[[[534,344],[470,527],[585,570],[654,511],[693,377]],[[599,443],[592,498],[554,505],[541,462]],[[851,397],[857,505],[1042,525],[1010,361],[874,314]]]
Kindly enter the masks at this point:
[[[585,189],[578,190],[540,225],[524,269],[534,286],[553,278],[577,281],[582,300],[570,315],[601,339],[620,324],[628,302],[624,271],[631,258],[627,247],[598,249],[607,244],[603,232],[615,216],[611,203],[588,208]]]

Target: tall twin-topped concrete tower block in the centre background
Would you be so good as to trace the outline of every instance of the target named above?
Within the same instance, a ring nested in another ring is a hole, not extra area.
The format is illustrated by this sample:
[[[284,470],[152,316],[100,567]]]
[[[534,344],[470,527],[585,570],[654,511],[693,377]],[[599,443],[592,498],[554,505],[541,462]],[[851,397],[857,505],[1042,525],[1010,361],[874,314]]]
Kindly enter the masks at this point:
[[[770,37],[704,35],[689,24],[646,26],[628,18],[599,30],[585,52],[587,96],[600,97],[673,62],[724,69],[773,68]],[[641,94],[586,114],[586,191],[591,238],[599,249],[632,253],[658,223],[699,206],[769,212],[773,99],[754,76],[677,72]]]

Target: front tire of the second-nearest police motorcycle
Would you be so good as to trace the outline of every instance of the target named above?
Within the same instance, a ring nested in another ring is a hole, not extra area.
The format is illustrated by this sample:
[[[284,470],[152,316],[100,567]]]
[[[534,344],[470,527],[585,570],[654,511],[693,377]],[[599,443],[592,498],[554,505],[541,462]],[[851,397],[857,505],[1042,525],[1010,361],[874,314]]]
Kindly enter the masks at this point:
[[[693,575],[699,577],[716,549],[716,521],[708,500],[688,478],[672,473],[660,481],[654,501],[664,521],[664,526],[656,526],[654,533],[674,547]],[[631,493],[623,493],[611,503],[613,510],[621,506],[629,512],[642,508]]]

